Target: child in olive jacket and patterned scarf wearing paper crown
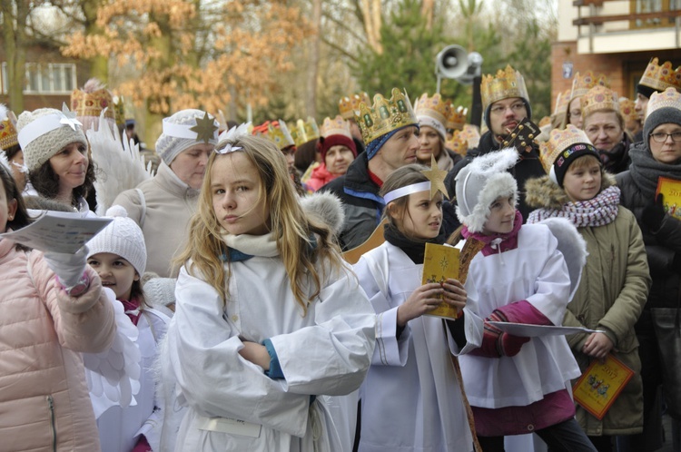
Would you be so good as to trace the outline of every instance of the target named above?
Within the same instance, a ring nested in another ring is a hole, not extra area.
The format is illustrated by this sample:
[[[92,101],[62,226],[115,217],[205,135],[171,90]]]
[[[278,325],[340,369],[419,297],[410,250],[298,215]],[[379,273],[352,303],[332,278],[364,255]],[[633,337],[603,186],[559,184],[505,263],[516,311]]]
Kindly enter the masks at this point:
[[[548,142],[541,143],[541,161],[548,175],[525,186],[528,204],[538,208],[528,223],[566,218],[587,244],[587,264],[562,323],[602,331],[566,336],[570,349],[582,373],[608,354],[635,371],[604,418],[576,405],[580,427],[598,450],[609,451],[613,436],[643,430],[634,325],[650,287],[646,249],[634,214],[619,205],[615,178],[605,171],[586,133],[572,124],[551,131]]]

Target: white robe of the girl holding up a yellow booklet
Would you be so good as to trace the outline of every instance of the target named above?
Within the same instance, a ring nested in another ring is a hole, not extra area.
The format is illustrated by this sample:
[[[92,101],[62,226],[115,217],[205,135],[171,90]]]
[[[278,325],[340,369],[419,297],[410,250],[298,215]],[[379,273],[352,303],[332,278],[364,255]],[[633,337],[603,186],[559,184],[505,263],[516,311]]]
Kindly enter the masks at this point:
[[[364,254],[354,270],[378,313],[376,349],[360,389],[360,452],[473,450],[451,355],[480,345],[476,300],[464,309],[463,349],[437,317],[410,320],[397,339],[398,307],[422,285],[423,264],[385,242]]]

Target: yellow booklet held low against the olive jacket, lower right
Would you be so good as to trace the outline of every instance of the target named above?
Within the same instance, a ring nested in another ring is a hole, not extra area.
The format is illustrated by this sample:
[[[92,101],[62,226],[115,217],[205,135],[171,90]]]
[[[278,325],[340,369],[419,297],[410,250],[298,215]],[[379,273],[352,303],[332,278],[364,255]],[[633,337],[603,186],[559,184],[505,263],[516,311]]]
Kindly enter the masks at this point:
[[[602,364],[595,359],[572,388],[575,401],[600,420],[633,376],[634,371],[612,354]]]

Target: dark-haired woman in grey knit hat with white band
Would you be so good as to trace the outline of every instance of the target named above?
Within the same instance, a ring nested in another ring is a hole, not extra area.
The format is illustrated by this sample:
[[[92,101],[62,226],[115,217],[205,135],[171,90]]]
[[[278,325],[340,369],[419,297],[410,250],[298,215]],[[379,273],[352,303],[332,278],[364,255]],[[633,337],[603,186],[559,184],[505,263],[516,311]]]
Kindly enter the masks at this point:
[[[27,194],[59,201],[77,211],[88,212],[85,201],[93,188],[94,165],[82,124],[64,106],[63,111],[39,108],[19,115],[19,145],[24,151]]]

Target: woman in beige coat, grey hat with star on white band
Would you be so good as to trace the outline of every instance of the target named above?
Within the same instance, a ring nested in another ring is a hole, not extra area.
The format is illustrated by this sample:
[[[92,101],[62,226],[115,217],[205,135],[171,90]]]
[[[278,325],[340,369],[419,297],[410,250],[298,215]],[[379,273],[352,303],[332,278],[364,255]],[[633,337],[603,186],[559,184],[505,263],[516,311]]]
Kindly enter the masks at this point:
[[[182,110],[163,119],[163,133],[156,141],[162,159],[158,172],[114,200],[142,228],[147,269],[161,277],[177,274],[171,260],[185,240],[217,138],[218,122],[201,110]]]

